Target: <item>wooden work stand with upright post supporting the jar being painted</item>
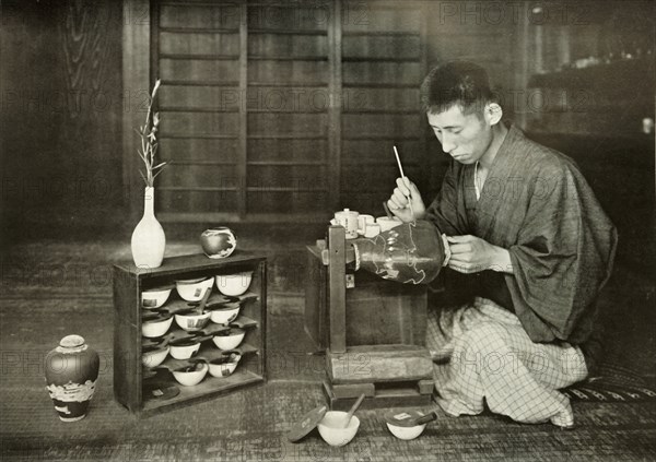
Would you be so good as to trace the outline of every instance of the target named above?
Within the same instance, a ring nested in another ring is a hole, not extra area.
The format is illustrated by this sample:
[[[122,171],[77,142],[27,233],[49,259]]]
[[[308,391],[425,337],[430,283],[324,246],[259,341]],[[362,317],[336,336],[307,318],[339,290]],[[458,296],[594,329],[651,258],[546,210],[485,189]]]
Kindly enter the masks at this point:
[[[362,393],[365,408],[427,405],[426,287],[349,271],[349,242],[343,227],[330,226],[327,242],[307,248],[305,328],[326,352],[330,408],[348,410]]]

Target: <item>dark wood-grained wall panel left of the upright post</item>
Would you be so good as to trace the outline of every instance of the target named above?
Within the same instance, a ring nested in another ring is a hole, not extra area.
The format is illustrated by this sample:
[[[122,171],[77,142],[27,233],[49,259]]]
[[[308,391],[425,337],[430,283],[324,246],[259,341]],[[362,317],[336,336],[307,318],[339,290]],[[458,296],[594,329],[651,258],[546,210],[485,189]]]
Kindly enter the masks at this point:
[[[121,3],[3,1],[1,14],[3,233],[115,223],[129,110]]]

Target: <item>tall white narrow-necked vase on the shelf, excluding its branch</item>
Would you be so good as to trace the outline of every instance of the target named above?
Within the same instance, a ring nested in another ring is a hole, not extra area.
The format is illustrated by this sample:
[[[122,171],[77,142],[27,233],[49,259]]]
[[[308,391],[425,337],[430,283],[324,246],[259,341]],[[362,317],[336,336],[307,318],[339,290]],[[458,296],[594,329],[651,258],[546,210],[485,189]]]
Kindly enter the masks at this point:
[[[139,268],[159,268],[164,260],[166,236],[155,218],[155,189],[147,187],[143,194],[143,216],[132,232],[132,259]]]

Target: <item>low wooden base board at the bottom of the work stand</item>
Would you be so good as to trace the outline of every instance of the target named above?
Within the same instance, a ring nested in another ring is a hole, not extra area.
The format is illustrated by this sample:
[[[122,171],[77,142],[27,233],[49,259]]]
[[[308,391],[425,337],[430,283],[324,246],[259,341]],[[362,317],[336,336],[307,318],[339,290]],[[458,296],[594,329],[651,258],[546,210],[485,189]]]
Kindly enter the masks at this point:
[[[432,389],[429,393],[421,394],[418,387],[399,387],[399,388],[383,388],[375,389],[373,383],[370,387],[363,388],[362,392],[365,394],[365,399],[361,404],[361,408],[386,408],[386,407],[421,407],[427,406],[433,401]],[[374,394],[371,394],[371,389],[374,388]],[[423,390],[425,391],[425,383]],[[328,381],[323,382],[324,396],[328,403],[328,406],[332,411],[349,411],[353,403],[358,400],[358,396],[344,396],[344,389],[341,387],[335,387]],[[353,388],[351,390],[355,392]]]

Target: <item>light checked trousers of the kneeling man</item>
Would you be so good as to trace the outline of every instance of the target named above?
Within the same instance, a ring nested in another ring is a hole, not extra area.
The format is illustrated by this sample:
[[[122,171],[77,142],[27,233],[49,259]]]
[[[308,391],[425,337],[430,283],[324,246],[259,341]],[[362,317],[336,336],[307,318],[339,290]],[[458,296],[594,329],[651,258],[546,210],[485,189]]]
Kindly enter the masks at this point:
[[[511,311],[476,298],[456,310],[430,310],[426,345],[437,404],[452,416],[490,411],[523,423],[574,425],[570,400],[558,390],[585,379],[581,348],[534,343]]]

